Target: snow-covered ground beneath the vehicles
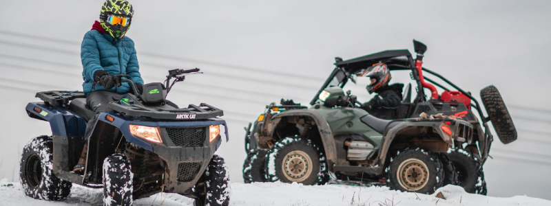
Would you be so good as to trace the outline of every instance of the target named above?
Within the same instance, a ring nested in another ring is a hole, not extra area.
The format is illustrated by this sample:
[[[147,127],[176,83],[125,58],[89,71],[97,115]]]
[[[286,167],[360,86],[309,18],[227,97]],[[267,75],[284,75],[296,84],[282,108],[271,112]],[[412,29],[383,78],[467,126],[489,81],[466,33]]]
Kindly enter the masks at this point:
[[[528,196],[497,198],[468,194],[463,188],[448,185],[440,188],[446,200],[435,194],[415,194],[388,190],[388,187],[357,187],[348,185],[304,186],[297,183],[232,183],[230,205],[551,205],[551,201]],[[65,201],[39,201],[23,194],[19,183],[0,181],[0,205],[102,205],[102,190],[73,185]],[[155,194],[134,201],[136,206],[193,205],[193,200],[178,194]]]

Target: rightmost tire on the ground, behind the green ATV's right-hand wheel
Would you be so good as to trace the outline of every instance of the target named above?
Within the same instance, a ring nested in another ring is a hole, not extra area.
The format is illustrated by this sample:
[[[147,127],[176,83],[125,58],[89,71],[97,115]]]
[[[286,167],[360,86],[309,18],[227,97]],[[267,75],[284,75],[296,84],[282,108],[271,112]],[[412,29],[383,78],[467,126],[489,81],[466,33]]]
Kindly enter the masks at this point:
[[[484,180],[484,171],[477,155],[464,149],[448,150],[448,158],[452,161],[457,171],[457,184],[468,193],[484,194],[486,190],[486,180]]]

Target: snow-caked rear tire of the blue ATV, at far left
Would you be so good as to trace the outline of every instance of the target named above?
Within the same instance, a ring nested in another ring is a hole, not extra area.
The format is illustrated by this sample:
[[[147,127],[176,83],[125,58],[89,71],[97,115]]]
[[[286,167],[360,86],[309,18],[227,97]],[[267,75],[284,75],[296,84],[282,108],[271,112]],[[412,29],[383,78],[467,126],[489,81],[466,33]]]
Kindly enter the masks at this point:
[[[26,196],[45,201],[61,201],[71,192],[72,183],[63,181],[53,171],[52,137],[31,139],[19,161],[21,187]]]

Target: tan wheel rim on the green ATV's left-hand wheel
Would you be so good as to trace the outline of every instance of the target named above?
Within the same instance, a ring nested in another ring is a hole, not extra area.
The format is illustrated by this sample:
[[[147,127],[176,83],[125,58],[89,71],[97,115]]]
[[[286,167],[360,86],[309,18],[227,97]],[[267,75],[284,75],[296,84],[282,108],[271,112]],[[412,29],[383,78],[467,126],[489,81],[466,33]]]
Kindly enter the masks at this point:
[[[312,174],[312,159],[306,152],[294,150],[285,155],[282,170],[289,181],[302,182]]]

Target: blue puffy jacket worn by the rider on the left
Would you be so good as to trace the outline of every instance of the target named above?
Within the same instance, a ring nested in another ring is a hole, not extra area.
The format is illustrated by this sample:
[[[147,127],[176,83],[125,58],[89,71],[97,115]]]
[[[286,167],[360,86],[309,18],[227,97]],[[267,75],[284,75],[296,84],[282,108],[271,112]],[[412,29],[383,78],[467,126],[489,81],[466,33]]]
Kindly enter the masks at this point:
[[[130,87],[126,82],[121,87],[113,87],[112,89],[105,89],[100,84],[96,84],[92,89],[94,72],[100,69],[111,75],[128,74],[132,77],[131,80],[134,80],[134,83],[143,84],[134,41],[127,36],[116,39],[109,34],[102,34],[98,30],[86,32],[81,45],[81,61],[83,66],[82,78],[84,80],[82,87],[85,95],[98,90],[107,90],[114,93],[128,93],[130,91]]]

